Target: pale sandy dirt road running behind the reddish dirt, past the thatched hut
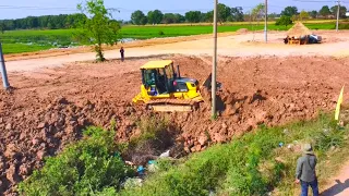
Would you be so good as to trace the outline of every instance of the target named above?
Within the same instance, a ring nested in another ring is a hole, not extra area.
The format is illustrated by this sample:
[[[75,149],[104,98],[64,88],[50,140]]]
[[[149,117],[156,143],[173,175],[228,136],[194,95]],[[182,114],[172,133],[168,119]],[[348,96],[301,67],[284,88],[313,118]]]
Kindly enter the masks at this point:
[[[349,56],[349,32],[317,32],[316,34],[324,37],[322,45],[309,46],[286,46],[282,44],[285,33],[270,33],[269,42],[263,42],[263,34],[244,34],[228,37],[220,37],[218,39],[218,53],[220,56],[229,57],[256,57],[256,56],[334,56],[342,57]],[[252,41],[254,39],[254,41]],[[146,57],[157,54],[210,54],[212,39],[200,39],[192,41],[182,41],[174,44],[165,44],[148,46],[142,48],[125,49],[125,57]],[[110,50],[105,52],[107,59],[119,58],[118,50]],[[95,53],[75,53],[59,57],[49,57],[41,59],[10,61],[7,63],[9,72],[16,71],[33,71],[40,68],[61,66],[64,63],[75,61],[89,61],[95,59]]]

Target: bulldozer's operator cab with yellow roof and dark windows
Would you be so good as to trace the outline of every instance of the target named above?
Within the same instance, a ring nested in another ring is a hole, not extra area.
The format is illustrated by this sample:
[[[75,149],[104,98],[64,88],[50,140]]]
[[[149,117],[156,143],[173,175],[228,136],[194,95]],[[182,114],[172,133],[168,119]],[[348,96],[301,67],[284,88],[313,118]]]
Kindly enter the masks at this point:
[[[141,66],[142,83],[148,90],[151,96],[169,94],[173,91],[173,81],[177,73],[173,71],[173,62],[166,61],[149,61]]]

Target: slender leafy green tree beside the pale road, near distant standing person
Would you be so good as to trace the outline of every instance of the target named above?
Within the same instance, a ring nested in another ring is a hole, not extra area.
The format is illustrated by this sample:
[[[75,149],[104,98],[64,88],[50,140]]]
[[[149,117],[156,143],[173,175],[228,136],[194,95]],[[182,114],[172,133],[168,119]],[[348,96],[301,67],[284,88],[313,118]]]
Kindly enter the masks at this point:
[[[89,39],[95,45],[98,61],[105,61],[103,44],[115,45],[118,41],[120,24],[111,20],[111,13],[106,9],[104,0],[88,0],[85,4],[77,4],[77,9],[88,15],[81,24],[80,38]]]

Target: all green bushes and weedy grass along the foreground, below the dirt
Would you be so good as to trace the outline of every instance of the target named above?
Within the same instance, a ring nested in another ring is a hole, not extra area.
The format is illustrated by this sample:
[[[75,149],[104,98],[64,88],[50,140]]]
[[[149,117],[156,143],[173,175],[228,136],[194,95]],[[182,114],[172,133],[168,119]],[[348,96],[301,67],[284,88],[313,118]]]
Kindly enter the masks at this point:
[[[139,123],[139,140],[154,139],[166,130],[164,119]],[[159,125],[157,125],[159,124]],[[89,127],[85,138],[61,155],[48,158],[45,167],[20,185],[24,195],[293,195],[297,158],[303,143],[311,143],[318,157],[318,177],[323,185],[344,162],[348,150],[348,128],[339,127],[327,114],[309,122],[285,126],[261,125],[254,132],[215,145],[189,157],[158,161],[143,186],[124,189],[121,184],[135,171],[118,157],[120,144],[113,131]],[[134,144],[134,143],[133,143]],[[118,147],[119,146],[119,147]],[[341,160],[341,161],[338,161]],[[333,166],[333,167],[327,167]],[[111,176],[112,175],[112,176]]]

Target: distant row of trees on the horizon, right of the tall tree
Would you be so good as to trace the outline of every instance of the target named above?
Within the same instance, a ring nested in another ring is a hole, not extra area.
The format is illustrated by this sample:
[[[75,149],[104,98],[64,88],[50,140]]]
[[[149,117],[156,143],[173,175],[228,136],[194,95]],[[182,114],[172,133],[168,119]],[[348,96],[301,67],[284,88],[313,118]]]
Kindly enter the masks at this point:
[[[288,20],[305,20],[305,19],[332,19],[337,15],[337,5],[329,8],[324,5],[321,10],[316,11],[298,11],[297,7],[286,7],[280,14],[270,13],[268,17],[270,20],[284,17],[290,17]],[[346,19],[347,13],[346,7],[340,7],[339,17]],[[243,21],[255,21],[264,17],[264,4],[261,3],[252,9],[250,12],[244,13],[241,7],[230,8],[226,4],[219,3],[217,11],[218,22],[243,22]],[[149,11],[147,14],[137,10],[131,15],[131,23],[134,25],[145,24],[171,24],[171,23],[201,23],[201,22],[213,22],[214,11],[201,12],[201,11],[189,11],[184,15],[179,13],[163,13],[160,10]]]

